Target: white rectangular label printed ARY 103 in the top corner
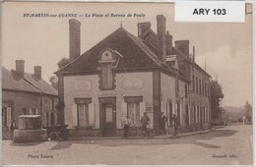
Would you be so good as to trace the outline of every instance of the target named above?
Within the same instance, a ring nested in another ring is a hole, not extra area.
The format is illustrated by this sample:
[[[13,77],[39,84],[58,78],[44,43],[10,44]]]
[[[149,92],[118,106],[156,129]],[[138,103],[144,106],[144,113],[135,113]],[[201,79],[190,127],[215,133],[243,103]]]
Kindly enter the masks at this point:
[[[244,22],[244,1],[175,2],[175,22]]]

